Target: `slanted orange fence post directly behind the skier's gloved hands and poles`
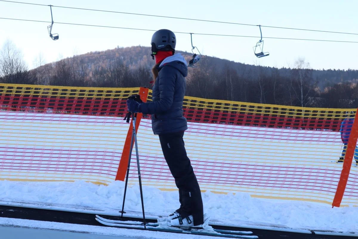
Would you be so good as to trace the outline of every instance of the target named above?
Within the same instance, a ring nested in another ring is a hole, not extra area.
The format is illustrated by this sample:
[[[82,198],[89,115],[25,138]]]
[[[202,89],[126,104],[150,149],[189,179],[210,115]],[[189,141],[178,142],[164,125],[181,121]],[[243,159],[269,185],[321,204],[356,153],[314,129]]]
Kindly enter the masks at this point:
[[[147,101],[148,90],[149,90],[148,88],[140,87],[139,95],[140,95],[140,99],[143,102]],[[139,127],[139,124],[140,124],[140,120],[142,119],[142,116],[143,116],[142,113],[137,113],[136,125],[135,125],[136,132],[138,130],[138,127]],[[117,175],[116,175],[115,180],[124,181],[124,179],[126,177],[129,154],[130,154],[130,148],[131,148],[132,131],[133,131],[133,126],[132,125],[133,125],[132,123],[129,124],[129,129],[128,129],[126,141],[124,143],[122,156],[121,156],[121,160],[120,160],[119,165],[118,165],[118,170],[117,170]]]

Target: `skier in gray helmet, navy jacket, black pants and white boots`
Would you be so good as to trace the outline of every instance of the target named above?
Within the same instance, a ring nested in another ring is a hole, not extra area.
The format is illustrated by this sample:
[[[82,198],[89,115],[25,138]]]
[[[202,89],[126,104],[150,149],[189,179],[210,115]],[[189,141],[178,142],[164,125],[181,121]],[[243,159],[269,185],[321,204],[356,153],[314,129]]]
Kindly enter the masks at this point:
[[[128,110],[151,114],[153,133],[159,135],[164,158],[179,189],[179,209],[169,219],[172,226],[202,227],[203,201],[200,187],[184,146],[183,135],[188,129],[183,116],[183,100],[188,75],[187,62],[175,52],[173,32],[161,29],[153,34],[151,45],[155,66],[152,69],[153,102],[139,104],[127,100]]]

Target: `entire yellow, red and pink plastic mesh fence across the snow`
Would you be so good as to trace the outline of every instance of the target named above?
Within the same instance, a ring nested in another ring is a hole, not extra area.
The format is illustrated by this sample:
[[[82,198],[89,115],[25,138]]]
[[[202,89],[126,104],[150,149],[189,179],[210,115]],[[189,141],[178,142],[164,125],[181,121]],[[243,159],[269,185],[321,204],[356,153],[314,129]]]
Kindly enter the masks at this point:
[[[0,85],[0,178],[113,181],[130,125],[123,120],[125,100],[138,92]],[[184,141],[202,190],[332,203],[342,171],[340,127],[355,109],[194,97],[185,97],[183,108]],[[150,116],[141,119],[137,137],[143,184],[176,190]],[[135,151],[131,157],[130,183],[136,183]],[[350,169],[342,205],[358,205],[357,169]]]

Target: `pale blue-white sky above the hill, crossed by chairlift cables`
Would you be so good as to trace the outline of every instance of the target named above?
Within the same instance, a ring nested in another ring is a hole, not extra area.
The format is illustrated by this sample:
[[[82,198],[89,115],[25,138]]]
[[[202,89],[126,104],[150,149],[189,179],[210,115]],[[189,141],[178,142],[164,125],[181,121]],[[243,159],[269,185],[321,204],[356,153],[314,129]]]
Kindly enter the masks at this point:
[[[257,38],[193,35],[193,44],[202,54],[247,64],[271,67],[293,67],[294,61],[305,58],[313,69],[355,69],[358,43],[315,42],[302,40],[265,39],[266,37],[343,40],[358,42],[357,0],[21,0],[25,3],[58,5],[76,8],[165,15],[275,27],[304,28],[357,35],[309,32],[262,27],[264,52],[270,56],[257,58],[252,47],[260,39],[258,27],[209,23],[192,20],[158,18],[119,13],[53,7],[54,22],[106,25],[141,29],[170,29],[173,32],[248,35]],[[50,21],[49,6],[0,1],[0,18]],[[0,19],[0,47],[7,39],[23,52],[29,68],[42,53],[45,62],[53,62],[74,54],[104,51],[117,46],[150,46],[153,32],[76,25],[53,25],[52,40],[47,23]],[[189,34],[176,33],[176,49],[191,52]],[[150,54],[150,52],[148,52]]]

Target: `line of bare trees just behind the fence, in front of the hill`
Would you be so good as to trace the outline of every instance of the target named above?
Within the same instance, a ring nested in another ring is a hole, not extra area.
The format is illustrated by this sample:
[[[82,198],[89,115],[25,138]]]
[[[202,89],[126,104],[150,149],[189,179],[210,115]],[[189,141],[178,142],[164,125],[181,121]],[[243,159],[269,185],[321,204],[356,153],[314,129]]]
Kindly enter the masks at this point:
[[[189,55],[186,55],[187,57]],[[37,68],[28,70],[21,52],[10,41],[0,53],[0,82],[81,87],[139,87],[151,88],[150,64],[133,67],[123,57],[113,56],[97,64],[86,54],[44,64],[40,56]],[[284,73],[283,73],[284,72]],[[246,64],[233,66],[201,60],[198,68],[190,68],[186,95],[261,104],[301,107],[356,108],[357,80],[340,81],[323,89],[303,58],[286,71]]]

